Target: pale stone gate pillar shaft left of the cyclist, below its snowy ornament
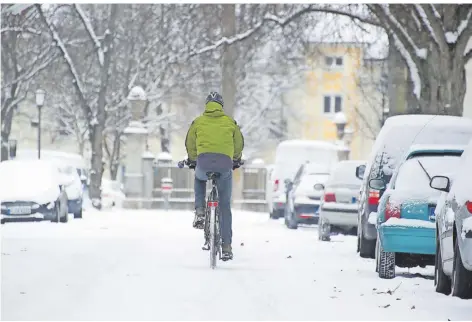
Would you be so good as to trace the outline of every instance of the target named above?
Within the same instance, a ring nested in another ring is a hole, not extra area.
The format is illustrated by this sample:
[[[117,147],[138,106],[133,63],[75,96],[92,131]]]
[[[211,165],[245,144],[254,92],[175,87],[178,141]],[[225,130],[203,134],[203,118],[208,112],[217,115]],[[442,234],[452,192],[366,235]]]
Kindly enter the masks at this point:
[[[127,198],[143,198],[143,162],[146,149],[147,130],[130,125],[124,131],[125,146],[125,194]],[[141,207],[141,202],[125,202],[127,208]]]

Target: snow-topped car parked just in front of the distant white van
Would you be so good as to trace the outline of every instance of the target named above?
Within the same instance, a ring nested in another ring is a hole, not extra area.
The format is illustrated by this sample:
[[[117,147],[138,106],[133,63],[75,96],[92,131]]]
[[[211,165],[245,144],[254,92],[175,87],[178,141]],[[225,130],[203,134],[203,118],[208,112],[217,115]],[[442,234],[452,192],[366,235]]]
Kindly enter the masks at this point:
[[[317,224],[323,184],[328,180],[329,167],[318,163],[300,166],[293,181],[286,179],[285,225],[297,229],[298,224]]]

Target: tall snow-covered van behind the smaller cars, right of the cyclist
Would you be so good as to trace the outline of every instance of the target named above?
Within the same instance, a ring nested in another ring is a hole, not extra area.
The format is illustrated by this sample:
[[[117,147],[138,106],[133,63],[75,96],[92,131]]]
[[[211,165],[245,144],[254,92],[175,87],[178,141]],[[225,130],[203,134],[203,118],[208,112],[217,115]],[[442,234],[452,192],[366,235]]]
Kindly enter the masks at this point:
[[[292,180],[303,163],[316,162],[331,166],[338,162],[338,147],[324,141],[287,140],[277,146],[274,170],[271,175],[273,189],[267,198],[270,217],[273,219],[284,216],[285,180]]]

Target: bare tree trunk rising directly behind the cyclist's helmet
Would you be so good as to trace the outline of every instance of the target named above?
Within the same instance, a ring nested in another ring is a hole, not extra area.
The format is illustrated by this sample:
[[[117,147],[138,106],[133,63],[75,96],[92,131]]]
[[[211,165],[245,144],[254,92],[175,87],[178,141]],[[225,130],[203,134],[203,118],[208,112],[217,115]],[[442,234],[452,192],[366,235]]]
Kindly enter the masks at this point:
[[[223,36],[231,37],[236,34],[236,5],[223,4]],[[229,116],[234,116],[236,103],[236,75],[235,64],[236,48],[233,45],[225,45],[222,58],[223,74],[223,100],[225,102],[224,110]]]

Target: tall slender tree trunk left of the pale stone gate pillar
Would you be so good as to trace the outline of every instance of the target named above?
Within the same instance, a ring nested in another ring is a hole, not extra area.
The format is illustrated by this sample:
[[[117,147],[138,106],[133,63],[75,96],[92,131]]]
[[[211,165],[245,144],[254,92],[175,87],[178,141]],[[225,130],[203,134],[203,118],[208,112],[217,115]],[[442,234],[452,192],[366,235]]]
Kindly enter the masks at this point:
[[[90,199],[92,204],[101,208],[101,185],[103,174],[103,132],[105,130],[106,120],[106,94],[108,89],[109,67],[111,55],[113,52],[113,41],[115,34],[115,22],[118,14],[118,5],[111,5],[110,20],[108,22],[108,30],[110,33],[105,35],[103,47],[105,52],[103,66],[100,75],[100,91],[98,93],[97,102],[97,122],[90,129],[90,143],[92,145],[92,171],[90,172]]]

